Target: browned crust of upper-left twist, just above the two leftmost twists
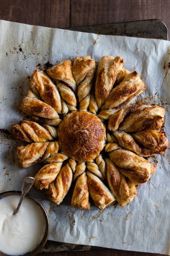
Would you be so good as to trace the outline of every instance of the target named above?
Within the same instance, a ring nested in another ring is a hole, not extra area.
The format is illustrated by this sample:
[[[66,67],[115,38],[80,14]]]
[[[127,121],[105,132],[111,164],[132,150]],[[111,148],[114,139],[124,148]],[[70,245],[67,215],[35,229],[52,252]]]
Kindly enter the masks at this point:
[[[58,113],[51,106],[39,100],[32,91],[28,91],[27,96],[19,105],[19,109],[30,116],[38,116],[40,118],[58,119]],[[44,122],[45,123],[45,122]]]

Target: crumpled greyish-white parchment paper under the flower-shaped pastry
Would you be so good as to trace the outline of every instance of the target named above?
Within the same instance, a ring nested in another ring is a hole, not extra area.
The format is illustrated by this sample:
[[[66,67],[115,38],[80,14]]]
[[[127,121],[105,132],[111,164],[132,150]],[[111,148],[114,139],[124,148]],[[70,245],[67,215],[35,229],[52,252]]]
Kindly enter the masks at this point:
[[[139,99],[166,108],[165,131],[169,136],[169,64],[170,42],[124,36],[103,36],[56,28],[0,21],[0,192],[20,190],[25,176],[34,175],[37,166],[22,169],[11,139],[11,126],[28,118],[18,110],[29,88],[33,70],[43,64],[56,64],[91,55],[99,61],[103,55],[120,55],[124,67],[136,70],[147,89]],[[5,130],[7,129],[7,130]],[[46,200],[44,192],[32,189],[50,218],[49,239],[132,251],[170,255],[170,180],[169,152],[150,158],[157,171],[150,181],[138,186],[138,195],[125,207],[110,206],[103,212],[94,205],[90,211],[70,207],[71,193],[60,206]]]

